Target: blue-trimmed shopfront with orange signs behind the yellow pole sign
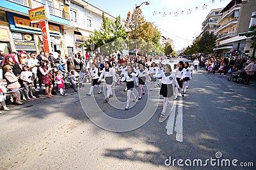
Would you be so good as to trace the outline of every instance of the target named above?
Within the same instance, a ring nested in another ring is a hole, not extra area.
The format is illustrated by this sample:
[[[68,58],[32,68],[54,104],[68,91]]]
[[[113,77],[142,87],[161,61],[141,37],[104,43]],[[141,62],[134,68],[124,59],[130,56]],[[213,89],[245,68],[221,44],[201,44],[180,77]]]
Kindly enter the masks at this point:
[[[6,16],[10,24],[13,43],[17,52],[24,50],[26,52],[40,53],[41,50],[44,50],[39,23],[31,23],[29,17],[8,11],[6,12]],[[60,25],[49,22],[49,32],[52,40],[52,50],[61,53],[61,49],[59,48],[61,41],[55,41],[55,39],[60,39],[61,37]]]

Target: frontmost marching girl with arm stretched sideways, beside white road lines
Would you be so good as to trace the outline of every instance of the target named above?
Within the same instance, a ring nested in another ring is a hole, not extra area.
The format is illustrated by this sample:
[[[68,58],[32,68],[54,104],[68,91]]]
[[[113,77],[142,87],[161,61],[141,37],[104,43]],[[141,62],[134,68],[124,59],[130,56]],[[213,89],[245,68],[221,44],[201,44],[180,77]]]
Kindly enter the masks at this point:
[[[161,78],[161,89],[160,89],[160,95],[164,97],[163,101],[163,111],[161,113],[161,117],[165,116],[166,109],[168,107],[168,99],[173,96],[173,87],[172,83],[175,83],[176,86],[179,86],[177,83],[175,74],[172,73],[172,67],[170,64],[164,65],[164,71],[161,71],[159,74],[149,74],[149,76],[155,77],[155,78]],[[174,82],[173,82],[174,81]]]

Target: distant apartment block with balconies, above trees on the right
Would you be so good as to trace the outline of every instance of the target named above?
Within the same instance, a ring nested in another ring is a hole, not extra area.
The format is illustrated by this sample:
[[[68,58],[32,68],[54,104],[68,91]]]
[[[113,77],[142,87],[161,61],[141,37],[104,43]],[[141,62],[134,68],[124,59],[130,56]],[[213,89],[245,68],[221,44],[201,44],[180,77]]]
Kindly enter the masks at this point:
[[[220,12],[222,10],[223,10],[223,8],[218,8],[218,9],[212,9],[209,12],[209,14],[205,18],[204,22],[202,23],[202,32],[201,32],[200,36],[202,34],[204,34],[205,31],[209,31],[210,33],[215,32],[216,29],[218,29],[218,27],[220,27],[220,25],[217,25],[217,22],[221,17]]]

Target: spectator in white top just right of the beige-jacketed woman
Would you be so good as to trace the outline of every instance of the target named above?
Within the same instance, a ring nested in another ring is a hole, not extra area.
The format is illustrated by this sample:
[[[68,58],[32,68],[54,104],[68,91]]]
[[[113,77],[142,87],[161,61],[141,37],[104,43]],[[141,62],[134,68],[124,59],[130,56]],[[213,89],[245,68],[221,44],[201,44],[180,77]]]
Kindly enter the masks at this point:
[[[20,73],[20,80],[23,81],[25,97],[28,101],[31,99],[36,99],[32,92],[32,75],[33,73],[29,71],[28,66],[24,66],[23,71]],[[29,94],[31,97],[29,97]]]

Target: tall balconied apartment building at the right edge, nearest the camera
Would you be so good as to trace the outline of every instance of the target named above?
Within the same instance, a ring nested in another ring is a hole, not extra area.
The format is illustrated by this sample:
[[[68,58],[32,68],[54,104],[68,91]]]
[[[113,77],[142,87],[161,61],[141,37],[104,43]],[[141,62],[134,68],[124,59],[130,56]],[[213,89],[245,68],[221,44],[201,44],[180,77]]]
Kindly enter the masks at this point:
[[[255,0],[233,0],[223,8],[217,22],[220,27],[214,32],[218,38],[217,47],[214,48],[217,55],[227,57],[236,50],[244,55],[248,38],[239,36],[239,33],[248,32],[252,12],[255,9]]]

